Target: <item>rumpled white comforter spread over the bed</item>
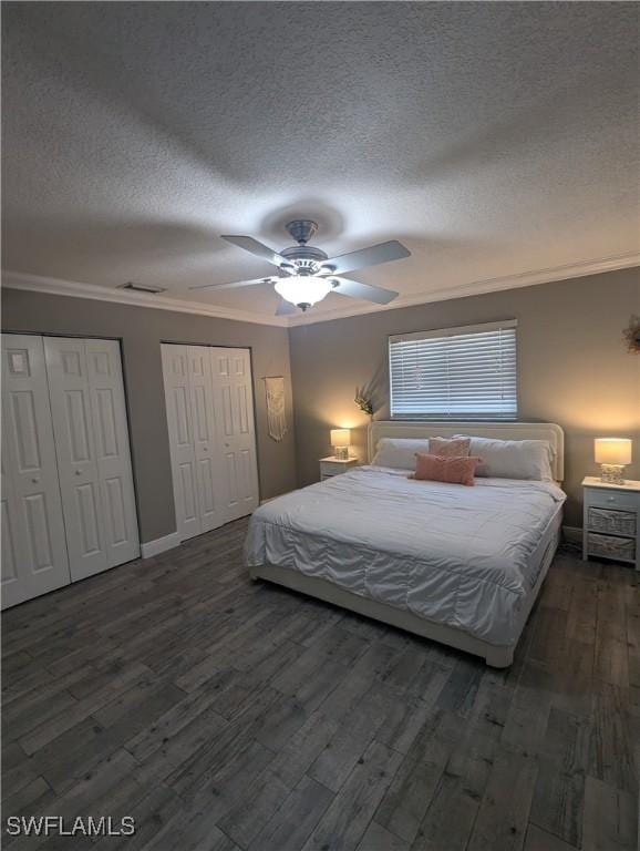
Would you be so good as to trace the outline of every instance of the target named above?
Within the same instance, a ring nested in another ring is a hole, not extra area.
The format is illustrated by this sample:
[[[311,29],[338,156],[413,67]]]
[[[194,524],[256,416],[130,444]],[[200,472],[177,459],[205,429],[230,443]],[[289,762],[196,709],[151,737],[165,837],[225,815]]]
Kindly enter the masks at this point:
[[[321,577],[510,645],[540,567],[531,556],[564,500],[551,482],[476,479],[465,488],[358,468],[260,506],[247,564]]]

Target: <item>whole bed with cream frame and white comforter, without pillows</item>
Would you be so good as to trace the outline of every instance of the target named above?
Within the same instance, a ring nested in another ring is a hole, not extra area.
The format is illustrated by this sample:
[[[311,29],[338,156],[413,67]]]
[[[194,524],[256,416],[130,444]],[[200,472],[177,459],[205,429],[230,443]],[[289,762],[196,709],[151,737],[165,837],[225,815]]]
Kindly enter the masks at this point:
[[[564,435],[554,423],[373,422],[381,438],[546,440],[553,480],[415,481],[363,465],[261,505],[246,560],[268,580],[426,638],[512,664],[556,552],[565,494]]]

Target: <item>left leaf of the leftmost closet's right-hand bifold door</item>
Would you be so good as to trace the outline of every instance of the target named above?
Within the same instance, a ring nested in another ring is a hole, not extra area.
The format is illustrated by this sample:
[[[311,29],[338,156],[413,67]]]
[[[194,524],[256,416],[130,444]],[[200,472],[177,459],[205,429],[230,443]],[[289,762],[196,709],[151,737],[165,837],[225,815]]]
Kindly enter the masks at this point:
[[[106,536],[84,340],[44,340],[60,488],[73,581],[106,570]]]

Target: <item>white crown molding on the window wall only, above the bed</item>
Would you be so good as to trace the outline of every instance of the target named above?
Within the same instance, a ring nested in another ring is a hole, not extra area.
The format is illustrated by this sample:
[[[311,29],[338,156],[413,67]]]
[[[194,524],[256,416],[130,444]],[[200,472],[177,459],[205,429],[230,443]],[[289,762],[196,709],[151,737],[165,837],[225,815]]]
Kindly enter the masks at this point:
[[[347,306],[334,310],[320,310],[314,308],[306,314],[296,314],[295,316],[288,317],[288,325],[290,328],[293,328],[300,325],[330,322],[334,319],[347,319],[351,316],[378,314],[382,310],[399,310],[403,307],[426,305],[432,301],[447,301],[450,299],[464,298],[466,296],[479,296],[485,293],[498,293],[503,289],[533,287],[536,284],[550,284],[556,280],[581,278],[587,275],[598,275],[603,271],[628,269],[633,268],[634,266],[640,266],[640,254],[637,252],[629,252],[611,257],[600,257],[598,259],[579,260],[564,266],[553,266],[547,269],[535,269],[531,271],[516,273],[514,275],[504,275],[497,278],[473,280],[442,289],[412,293],[411,295],[400,296],[389,305],[354,305],[353,307]]]

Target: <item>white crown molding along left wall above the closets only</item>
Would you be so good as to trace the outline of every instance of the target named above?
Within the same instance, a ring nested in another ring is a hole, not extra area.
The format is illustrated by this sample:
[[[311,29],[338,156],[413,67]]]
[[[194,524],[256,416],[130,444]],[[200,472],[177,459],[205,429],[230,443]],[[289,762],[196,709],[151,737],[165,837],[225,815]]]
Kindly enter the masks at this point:
[[[184,301],[177,298],[166,298],[154,294],[132,293],[126,289],[111,289],[93,284],[81,284],[76,280],[62,280],[40,275],[29,275],[23,271],[2,271],[2,287],[6,289],[25,289],[32,293],[47,293],[54,296],[71,296],[72,298],[90,298],[94,301],[111,301],[132,307],[152,307],[156,310],[174,310],[178,314],[196,314],[215,319],[231,319],[236,322],[254,322],[286,328],[287,317],[254,314],[219,305],[204,305],[197,301]]]

